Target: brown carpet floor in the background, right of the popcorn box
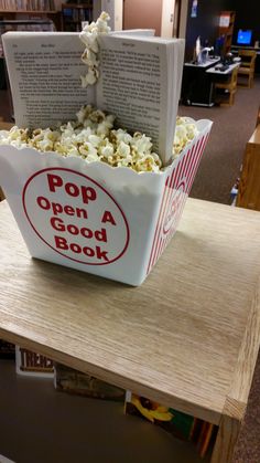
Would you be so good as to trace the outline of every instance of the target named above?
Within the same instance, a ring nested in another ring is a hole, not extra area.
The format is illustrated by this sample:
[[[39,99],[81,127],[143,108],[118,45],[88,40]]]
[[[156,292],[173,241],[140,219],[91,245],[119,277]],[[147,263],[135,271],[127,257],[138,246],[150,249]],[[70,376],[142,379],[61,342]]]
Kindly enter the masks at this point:
[[[213,120],[213,129],[191,196],[230,203],[230,189],[239,177],[246,144],[256,126],[260,105],[260,76],[252,88],[238,88],[230,107],[183,106],[180,116]]]

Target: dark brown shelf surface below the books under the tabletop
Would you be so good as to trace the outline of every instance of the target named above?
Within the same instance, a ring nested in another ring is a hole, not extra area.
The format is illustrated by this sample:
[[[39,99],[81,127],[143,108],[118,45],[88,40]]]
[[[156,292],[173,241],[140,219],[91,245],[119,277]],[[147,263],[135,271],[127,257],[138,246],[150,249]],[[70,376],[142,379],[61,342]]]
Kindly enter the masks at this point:
[[[12,461],[209,463],[192,443],[124,415],[122,403],[58,392],[51,379],[24,378],[14,368],[0,360],[0,451]]]

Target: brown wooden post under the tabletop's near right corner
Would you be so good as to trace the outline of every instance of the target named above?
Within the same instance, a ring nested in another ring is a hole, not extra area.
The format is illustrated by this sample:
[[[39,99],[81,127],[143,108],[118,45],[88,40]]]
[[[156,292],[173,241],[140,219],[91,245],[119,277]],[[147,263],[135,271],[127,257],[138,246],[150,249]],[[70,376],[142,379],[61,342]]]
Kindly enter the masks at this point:
[[[241,422],[223,415],[210,463],[231,463]]]

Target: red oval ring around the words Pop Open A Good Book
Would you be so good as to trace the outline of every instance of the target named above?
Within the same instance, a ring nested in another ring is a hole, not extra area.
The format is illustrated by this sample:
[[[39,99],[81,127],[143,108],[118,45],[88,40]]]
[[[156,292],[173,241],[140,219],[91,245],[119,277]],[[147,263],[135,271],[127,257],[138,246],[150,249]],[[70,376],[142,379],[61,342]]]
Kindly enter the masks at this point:
[[[93,183],[95,183],[98,188],[100,188],[111,200],[112,200],[112,202],[118,207],[118,209],[119,209],[119,211],[121,212],[121,214],[122,214],[122,218],[123,218],[123,221],[124,221],[124,224],[126,224],[126,229],[127,229],[127,240],[126,240],[126,244],[124,244],[124,248],[123,248],[123,250],[121,251],[121,253],[117,256],[117,257],[115,257],[112,261],[109,261],[109,262],[100,262],[100,263],[94,263],[94,262],[90,262],[90,263],[88,263],[88,262],[84,262],[84,261],[79,261],[78,259],[74,259],[74,257],[69,257],[68,255],[65,255],[65,254],[63,254],[62,252],[59,252],[59,251],[57,251],[55,248],[53,248],[46,240],[44,240],[42,236],[41,236],[41,234],[37,232],[37,230],[35,229],[35,227],[33,225],[33,223],[32,223],[32,221],[31,221],[31,219],[29,218],[29,214],[28,214],[28,210],[26,210],[26,207],[25,207],[25,194],[26,194],[26,188],[29,187],[29,183],[32,181],[32,179],[34,178],[34,177],[36,177],[36,176],[39,176],[39,175],[41,175],[41,173],[43,173],[43,172],[46,172],[46,171],[52,171],[52,170],[65,170],[65,171],[67,171],[67,172],[73,172],[73,173],[76,173],[76,175],[78,175],[78,176],[82,176],[83,178],[85,178],[85,179],[87,179],[88,181],[90,181],[90,182],[93,182]],[[120,259],[121,256],[122,256],[122,254],[124,254],[124,252],[127,251],[127,248],[128,248],[128,245],[129,245],[129,240],[130,240],[130,231],[129,231],[129,225],[128,225],[128,221],[127,221],[127,218],[126,218],[126,215],[124,215],[124,213],[123,213],[123,211],[122,211],[122,209],[120,208],[120,206],[117,203],[117,201],[112,198],[112,196],[104,188],[104,187],[101,187],[96,180],[93,180],[90,177],[88,177],[88,176],[85,176],[84,173],[80,173],[80,172],[77,172],[76,170],[73,170],[73,169],[67,169],[67,168],[65,168],[65,167],[47,167],[46,169],[41,169],[41,170],[39,170],[37,172],[34,172],[28,180],[26,180],[26,183],[24,185],[24,187],[23,187],[23,192],[22,192],[22,203],[23,203],[23,210],[24,210],[24,212],[25,212],[25,215],[26,215],[26,219],[28,219],[28,221],[29,221],[29,223],[30,223],[30,225],[32,227],[32,229],[33,229],[33,231],[37,234],[37,236],[45,243],[45,244],[47,244],[47,246],[48,248],[51,248],[53,251],[55,251],[55,252],[57,252],[58,254],[61,254],[63,257],[66,257],[66,259],[69,259],[71,261],[75,261],[75,262],[78,262],[78,263],[80,263],[80,264],[85,264],[85,265],[108,265],[108,264],[111,264],[112,262],[115,262],[115,261],[117,261],[118,259]]]

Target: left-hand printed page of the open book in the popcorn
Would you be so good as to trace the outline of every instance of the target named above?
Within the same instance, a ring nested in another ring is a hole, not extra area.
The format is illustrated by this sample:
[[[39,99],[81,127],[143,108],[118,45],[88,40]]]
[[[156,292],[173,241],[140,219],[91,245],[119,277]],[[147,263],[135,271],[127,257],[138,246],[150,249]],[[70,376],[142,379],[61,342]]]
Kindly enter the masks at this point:
[[[19,127],[55,126],[95,103],[95,88],[82,88],[78,33],[8,32],[2,41]]]

